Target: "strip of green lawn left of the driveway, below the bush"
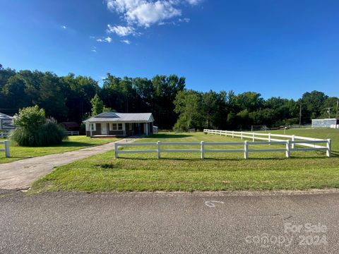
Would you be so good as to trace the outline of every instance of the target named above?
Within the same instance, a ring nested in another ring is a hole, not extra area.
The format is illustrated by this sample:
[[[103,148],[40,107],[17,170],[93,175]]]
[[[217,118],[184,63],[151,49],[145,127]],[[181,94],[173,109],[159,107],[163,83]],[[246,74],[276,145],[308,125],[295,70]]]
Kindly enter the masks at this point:
[[[3,140],[3,139],[0,139]],[[5,157],[4,152],[0,152],[0,164],[13,162],[19,159],[27,159],[30,157],[37,157],[42,155],[51,155],[59,152],[68,152],[78,150],[93,145],[102,145],[113,142],[117,138],[88,138],[86,136],[70,136],[68,140],[62,142],[61,145],[54,145],[49,147],[20,147],[10,143],[9,149],[11,153],[10,158]],[[3,148],[4,145],[1,145]]]

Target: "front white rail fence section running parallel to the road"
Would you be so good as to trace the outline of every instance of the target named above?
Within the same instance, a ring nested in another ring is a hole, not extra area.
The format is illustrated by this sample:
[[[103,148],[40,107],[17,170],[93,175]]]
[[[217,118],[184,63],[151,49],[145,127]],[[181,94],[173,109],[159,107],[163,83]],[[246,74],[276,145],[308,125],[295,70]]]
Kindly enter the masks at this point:
[[[296,148],[294,145],[304,145],[310,143],[326,143],[325,146],[317,147],[302,147]],[[198,149],[163,149],[165,145],[189,145],[197,146]],[[242,145],[243,149],[205,149],[206,145],[219,146],[219,145]],[[249,146],[256,145],[284,145],[283,148],[271,148],[271,149],[249,149]],[[119,147],[137,147],[137,146],[155,146],[155,149],[148,150],[119,150]],[[243,142],[150,142],[150,143],[114,143],[115,154],[117,159],[121,154],[136,154],[136,153],[157,153],[157,157],[160,159],[163,152],[196,152],[201,154],[201,159],[205,157],[206,153],[212,152],[242,152],[244,153],[244,159],[249,158],[249,152],[285,152],[287,158],[290,157],[292,151],[314,151],[325,150],[326,156],[331,157],[331,140],[279,140],[279,141],[243,141]]]

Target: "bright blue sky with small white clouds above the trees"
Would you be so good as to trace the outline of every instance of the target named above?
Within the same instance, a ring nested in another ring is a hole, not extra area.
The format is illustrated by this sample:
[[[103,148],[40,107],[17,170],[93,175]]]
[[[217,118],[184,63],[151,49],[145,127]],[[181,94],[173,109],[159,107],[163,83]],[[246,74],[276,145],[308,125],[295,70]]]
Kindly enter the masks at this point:
[[[194,90],[339,94],[338,0],[0,0],[4,67]]]

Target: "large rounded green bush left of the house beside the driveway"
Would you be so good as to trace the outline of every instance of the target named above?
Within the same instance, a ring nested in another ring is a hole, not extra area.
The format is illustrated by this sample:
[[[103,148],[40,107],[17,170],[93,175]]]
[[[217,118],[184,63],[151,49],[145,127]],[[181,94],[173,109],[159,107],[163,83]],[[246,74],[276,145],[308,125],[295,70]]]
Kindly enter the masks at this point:
[[[67,137],[66,130],[54,119],[46,119],[37,106],[20,109],[13,122],[16,129],[10,138],[20,146],[58,145]]]

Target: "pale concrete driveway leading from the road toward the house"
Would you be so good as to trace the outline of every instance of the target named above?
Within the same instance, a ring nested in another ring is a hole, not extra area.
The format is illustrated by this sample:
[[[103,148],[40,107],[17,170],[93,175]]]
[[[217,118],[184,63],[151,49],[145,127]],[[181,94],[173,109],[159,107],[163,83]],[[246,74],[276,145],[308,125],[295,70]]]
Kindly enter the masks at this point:
[[[135,138],[129,138],[117,142],[124,143],[135,140]],[[114,150],[114,143],[0,164],[0,189],[29,188],[34,181],[52,172],[54,167],[69,164],[78,159],[84,159],[109,150]]]

